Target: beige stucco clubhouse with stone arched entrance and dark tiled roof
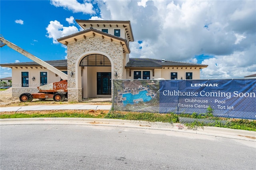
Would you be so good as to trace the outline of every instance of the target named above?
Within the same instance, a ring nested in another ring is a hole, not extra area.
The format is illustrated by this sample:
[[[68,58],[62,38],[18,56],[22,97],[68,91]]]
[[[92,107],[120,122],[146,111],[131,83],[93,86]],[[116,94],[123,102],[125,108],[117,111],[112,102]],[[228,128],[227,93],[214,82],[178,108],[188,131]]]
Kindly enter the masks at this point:
[[[76,20],[84,29],[58,39],[67,46],[67,60],[46,61],[68,75],[68,101],[111,97],[111,79],[200,79],[208,65],[130,58],[134,41],[130,21]],[[38,92],[36,85],[60,80],[35,62],[0,64],[12,68],[13,96]],[[24,86],[25,85],[25,86]]]

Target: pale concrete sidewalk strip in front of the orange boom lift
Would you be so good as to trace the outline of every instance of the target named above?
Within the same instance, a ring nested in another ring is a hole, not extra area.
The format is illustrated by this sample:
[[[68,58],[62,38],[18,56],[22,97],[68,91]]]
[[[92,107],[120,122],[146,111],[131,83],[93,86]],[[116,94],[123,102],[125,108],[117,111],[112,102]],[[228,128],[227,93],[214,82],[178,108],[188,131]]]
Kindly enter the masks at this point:
[[[0,112],[10,111],[44,111],[44,110],[110,110],[111,105],[33,105],[0,107]]]

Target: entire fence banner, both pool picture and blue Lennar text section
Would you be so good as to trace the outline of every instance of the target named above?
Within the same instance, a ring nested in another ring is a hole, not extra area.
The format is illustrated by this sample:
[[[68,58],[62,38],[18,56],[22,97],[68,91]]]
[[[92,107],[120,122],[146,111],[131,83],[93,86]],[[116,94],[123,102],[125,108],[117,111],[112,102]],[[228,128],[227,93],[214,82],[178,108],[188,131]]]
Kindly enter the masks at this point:
[[[256,119],[256,79],[113,80],[113,109]]]

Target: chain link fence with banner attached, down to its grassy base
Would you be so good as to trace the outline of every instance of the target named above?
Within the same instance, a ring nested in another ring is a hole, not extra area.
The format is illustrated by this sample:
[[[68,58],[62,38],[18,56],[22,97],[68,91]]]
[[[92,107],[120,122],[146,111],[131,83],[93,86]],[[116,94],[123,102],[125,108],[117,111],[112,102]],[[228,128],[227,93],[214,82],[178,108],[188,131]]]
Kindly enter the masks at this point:
[[[256,79],[114,79],[109,116],[150,127],[173,127],[173,123],[225,127],[234,119],[247,123],[256,119],[255,95]]]

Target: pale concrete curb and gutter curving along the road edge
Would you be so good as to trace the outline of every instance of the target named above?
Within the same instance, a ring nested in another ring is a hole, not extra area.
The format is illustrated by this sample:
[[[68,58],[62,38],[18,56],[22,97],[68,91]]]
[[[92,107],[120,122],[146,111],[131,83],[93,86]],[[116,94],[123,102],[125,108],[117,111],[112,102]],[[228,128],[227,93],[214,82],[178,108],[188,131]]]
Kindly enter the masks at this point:
[[[129,121],[121,119],[95,119],[95,118],[17,118],[17,119],[0,119],[0,125],[31,125],[31,124],[62,124],[62,125],[97,125],[97,126],[115,126],[130,127],[142,129],[168,130],[174,132],[201,134],[215,137],[233,138],[238,140],[247,140],[256,142],[256,132],[248,130],[237,130],[219,127],[204,127],[204,129],[191,130],[183,126],[179,129],[180,124],[158,123],[157,126],[151,126],[146,121]],[[153,123],[154,124],[154,123]],[[163,126],[161,126],[163,125]]]

